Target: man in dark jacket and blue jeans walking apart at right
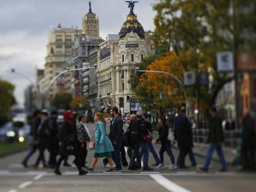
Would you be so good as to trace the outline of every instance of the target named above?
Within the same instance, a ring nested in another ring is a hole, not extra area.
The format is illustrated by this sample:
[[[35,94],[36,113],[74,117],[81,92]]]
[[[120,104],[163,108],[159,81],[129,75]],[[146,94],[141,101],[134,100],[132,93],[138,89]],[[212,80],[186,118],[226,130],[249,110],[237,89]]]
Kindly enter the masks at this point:
[[[224,134],[223,134],[223,128],[221,125],[221,119],[216,115],[216,107],[212,106],[210,108],[210,119],[208,120],[207,127],[209,128],[209,133],[208,133],[208,138],[207,138],[207,143],[208,149],[207,149],[207,154],[205,157],[205,164],[203,167],[198,167],[199,170],[203,172],[208,171],[208,167],[211,162],[211,156],[213,152],[217,151],[217,154],[220,158],[220,162],[222,164],[222,167],[220,169],[221,172],[226,172],[228,170],[228,167],[226,165],[226,160],[223,154],[222,150],[222,143],[224,142]]]

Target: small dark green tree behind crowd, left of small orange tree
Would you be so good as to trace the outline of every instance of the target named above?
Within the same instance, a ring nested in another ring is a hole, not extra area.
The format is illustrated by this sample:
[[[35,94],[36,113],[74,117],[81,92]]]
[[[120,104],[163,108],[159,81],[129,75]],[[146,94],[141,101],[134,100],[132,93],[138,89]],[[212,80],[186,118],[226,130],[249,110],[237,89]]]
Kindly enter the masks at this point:
[[[72,102],[72,95],[70,93],[56,94],[51,101],[51,105],[57,109],[70,109],[70,103]]]

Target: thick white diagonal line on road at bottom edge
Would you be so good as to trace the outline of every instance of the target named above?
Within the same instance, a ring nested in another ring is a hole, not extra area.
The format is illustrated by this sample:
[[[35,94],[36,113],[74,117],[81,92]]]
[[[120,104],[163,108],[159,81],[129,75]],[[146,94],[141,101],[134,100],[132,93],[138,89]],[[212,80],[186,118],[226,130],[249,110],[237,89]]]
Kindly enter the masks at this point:
[[[153,178],[156,182],[158,182],[161,186],[166,188],[169,191],[173,192],[190,192],[189,190],[183,188],[182,186],[177,185],[176,183],[171,182],[167,178],[163,177],[163,175],[160,174],[153,174],[150,175],[151,178]]]

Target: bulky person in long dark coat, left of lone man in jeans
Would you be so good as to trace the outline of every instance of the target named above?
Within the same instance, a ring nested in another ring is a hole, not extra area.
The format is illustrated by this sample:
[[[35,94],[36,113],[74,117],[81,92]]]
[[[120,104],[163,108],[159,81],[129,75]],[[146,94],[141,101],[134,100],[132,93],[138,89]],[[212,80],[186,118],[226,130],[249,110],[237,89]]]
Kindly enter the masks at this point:
[[[185,165],[185,159],[190,149],[193,146],[192,130],[187,119],[186,107],[181,107],[181,112],[174,120],[174,131],[177,139],[177,145],[179,147],[179,156],[177,158],[177,165],[181,169],[189,168]]]

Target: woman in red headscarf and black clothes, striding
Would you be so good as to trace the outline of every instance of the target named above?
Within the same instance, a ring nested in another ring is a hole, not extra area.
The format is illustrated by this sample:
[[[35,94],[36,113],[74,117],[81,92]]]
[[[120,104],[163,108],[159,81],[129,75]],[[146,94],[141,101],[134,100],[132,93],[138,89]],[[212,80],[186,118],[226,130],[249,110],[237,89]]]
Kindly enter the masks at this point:
[[[65,111],[64,112],[64,123],[61,126],[61,146],[59,148],[60,157],[58,159],[56,168],[54,173],[56,175],[61,175],[62,173],[59,171],[59,166],[61,162],[65,159],[67,155],[75,156],[75,165],[77,165],[77,169],[79,170],[79,175],[85,175],[88,172],[82,169],[81,157],[79,156],[79,142],[77,140],[77,133],[72,121],[72,112]]]

